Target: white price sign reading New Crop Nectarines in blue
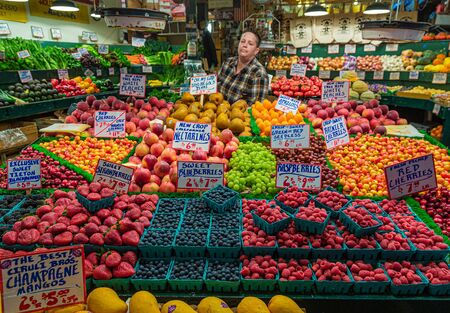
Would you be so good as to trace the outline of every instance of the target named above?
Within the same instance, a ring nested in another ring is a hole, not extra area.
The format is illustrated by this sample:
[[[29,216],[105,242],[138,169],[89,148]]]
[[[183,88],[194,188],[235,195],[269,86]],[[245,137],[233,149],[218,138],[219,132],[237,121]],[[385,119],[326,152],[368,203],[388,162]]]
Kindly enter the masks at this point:
[[[175,124],[172,147],[179,150],[209,151],[211,141],[211,124],[189,123],[179,121]]]

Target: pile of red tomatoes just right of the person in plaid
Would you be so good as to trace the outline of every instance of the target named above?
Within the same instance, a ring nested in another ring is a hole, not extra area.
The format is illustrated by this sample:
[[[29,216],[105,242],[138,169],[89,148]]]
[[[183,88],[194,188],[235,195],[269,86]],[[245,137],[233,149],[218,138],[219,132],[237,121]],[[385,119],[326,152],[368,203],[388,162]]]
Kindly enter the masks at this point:
[[[287,79],[285,76],[272,79],[270,88],[276,96],[285,95],[288,97],[320,97],[322,94],[322,80],[317,76],[308,78],[295,76]]]

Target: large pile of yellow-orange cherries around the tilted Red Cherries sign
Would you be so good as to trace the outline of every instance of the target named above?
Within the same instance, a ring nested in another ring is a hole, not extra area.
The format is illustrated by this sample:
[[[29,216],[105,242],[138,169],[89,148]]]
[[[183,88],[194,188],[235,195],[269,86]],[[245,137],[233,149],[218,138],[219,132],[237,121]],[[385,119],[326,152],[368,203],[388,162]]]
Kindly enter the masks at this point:
[[[352,196],[386,196],[384,167],[432,153],[439,186],[450,186],[450,157],[425,140],[380,135],[357,135],[348,145],[328,153],[331,165],[339,170],[340,184]]]

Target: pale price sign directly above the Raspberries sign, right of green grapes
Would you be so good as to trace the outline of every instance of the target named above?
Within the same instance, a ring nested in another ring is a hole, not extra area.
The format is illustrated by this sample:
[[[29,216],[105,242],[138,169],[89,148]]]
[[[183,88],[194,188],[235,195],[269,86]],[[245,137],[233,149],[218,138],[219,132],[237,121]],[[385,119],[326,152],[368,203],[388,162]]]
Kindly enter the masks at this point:
[[[308,149],[310,128],[308,124],[273,125],[270,134],[272,149]]]

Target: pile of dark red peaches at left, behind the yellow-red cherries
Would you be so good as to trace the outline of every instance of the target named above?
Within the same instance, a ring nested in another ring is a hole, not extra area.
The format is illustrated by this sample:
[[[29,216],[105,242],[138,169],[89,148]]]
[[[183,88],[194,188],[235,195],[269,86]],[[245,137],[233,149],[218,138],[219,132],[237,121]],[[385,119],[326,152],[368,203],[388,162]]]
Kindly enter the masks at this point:
[[[126,101],[109,96],[106,99],[97,99],[94,95],[86,97],[85,101],[77,103],[77,108],[68,115],[65,123],[83,123],[90,126],[88,133],[94,135],[95,111],[125,111],[125,131],[134,137],[143,137],[150,128],[153,120],[162,124],[170,114],[173,103],[164,99],[150,97],[148,101],[129,97]]]

